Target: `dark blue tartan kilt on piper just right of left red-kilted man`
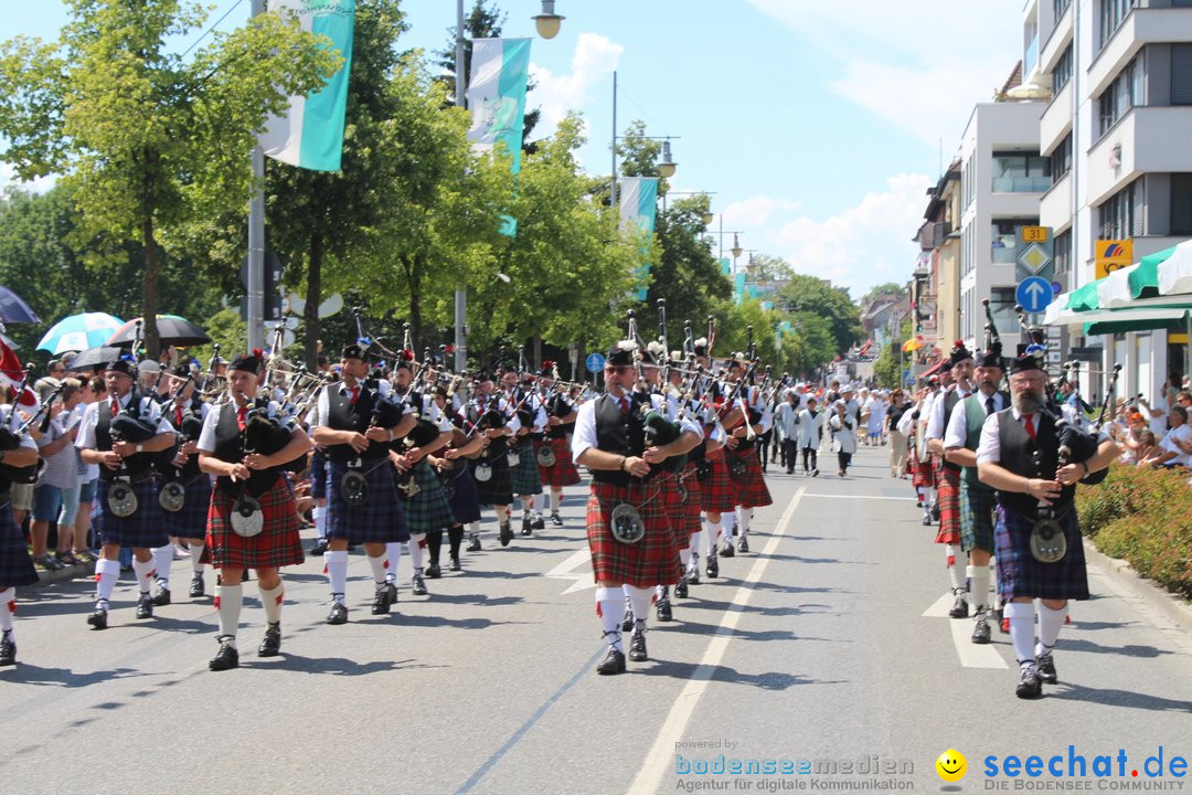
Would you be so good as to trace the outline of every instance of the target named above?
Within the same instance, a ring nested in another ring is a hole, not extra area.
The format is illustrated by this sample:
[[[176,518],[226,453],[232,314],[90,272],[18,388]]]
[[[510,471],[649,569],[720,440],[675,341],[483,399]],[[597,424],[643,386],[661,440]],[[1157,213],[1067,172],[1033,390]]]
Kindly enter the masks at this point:
[[[340,493],[340,478],[346,464],[327,466],[327,538],[347,539],[349,544],[390,544],[409,541],[402,503],[393,487],[393,465],[389,459],[366,461],[361,467],[368,484],[368,501],[352,507]]]

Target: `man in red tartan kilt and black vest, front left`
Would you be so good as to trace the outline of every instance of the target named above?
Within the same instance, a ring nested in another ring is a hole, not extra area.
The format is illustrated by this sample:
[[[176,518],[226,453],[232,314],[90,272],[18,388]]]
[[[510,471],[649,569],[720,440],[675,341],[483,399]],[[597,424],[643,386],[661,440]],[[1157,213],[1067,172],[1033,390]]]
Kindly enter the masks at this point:
[[[310,451],[310,439],[277,403],[265,402],[260,406],[249,403],[248,396],[256,392],[260,365],[256,356],[237,356],[231,362],[228,371],[230,399],[207,414],[197,443],[199,466],[217,478],[206,533],[211,565],[219,570],[219,584],[216,585],[219,651],[207,664],[212,671],[240,665],[236,633],[247,569],[256,570],[256,585],[265,608],[265,639],[256,653],[273,657],[280,652],[285,588],[278,570],[303,561],[298,513],[284,467]],[[262,416],[254,418],[250,411]],[[277,449],[269,453],[255,449],[260,442],[250,435],[252,430],[246,430],[254,422],[275,424],[277,429],[269,433],[273,440],[269,447]],[[242,496],[260,504],[261,527],[255,535],[241,535],[232,523],[232,515],[240,513]]]

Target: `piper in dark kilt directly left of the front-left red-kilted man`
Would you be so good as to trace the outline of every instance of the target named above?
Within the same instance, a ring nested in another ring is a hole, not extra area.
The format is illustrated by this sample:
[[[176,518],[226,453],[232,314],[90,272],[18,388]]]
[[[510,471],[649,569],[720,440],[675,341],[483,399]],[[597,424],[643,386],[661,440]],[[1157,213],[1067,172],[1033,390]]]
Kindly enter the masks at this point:
[[[95,561],[95,609],[87,616],[87,623],[95,629],[107,628],[107,609],[120,576],[122,546],[132,548],[132,571],[141,592],[137,617],[153,617],[149,588],[154,567],[149,551],[169,539],[157,502],[154,454],[169,449],[175,442],[174,429],[161,416],[157,402],[134,389],[136,365],[131,360],[117,359],[108,364],[104,379],[108,397],[87,406],[75,440],[83,464],[100,465],[92,521],[103,548]],[[120,427],[131,422],[141,429],[144,441],[126,441],[123,434],[113,434],[117,415],[122,415]],[[112,510],[108,497],[116,485],[119,485],[118,491],[130,489],[136,498],[135,510],[126,516],[117,516]]]

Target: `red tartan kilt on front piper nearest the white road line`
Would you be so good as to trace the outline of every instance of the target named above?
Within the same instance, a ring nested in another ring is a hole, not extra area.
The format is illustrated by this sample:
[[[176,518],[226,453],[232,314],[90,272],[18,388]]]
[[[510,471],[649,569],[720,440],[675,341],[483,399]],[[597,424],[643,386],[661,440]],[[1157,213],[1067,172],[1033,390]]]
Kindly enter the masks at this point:
[[[634,486],[591,484],[588,496],[588,547],[592,553],[595,582],[638,588],[673,585],[678,582],[683,573],[678,558],[679,546],[675,541],[666,513],[668,501],[672,498],[668,498],[665,490],[665,485],[653,480]],[[613,539],[608,529],[609,516],[621,502],[637,505],[646,524],[646,534],[637,544],[621,544]]]

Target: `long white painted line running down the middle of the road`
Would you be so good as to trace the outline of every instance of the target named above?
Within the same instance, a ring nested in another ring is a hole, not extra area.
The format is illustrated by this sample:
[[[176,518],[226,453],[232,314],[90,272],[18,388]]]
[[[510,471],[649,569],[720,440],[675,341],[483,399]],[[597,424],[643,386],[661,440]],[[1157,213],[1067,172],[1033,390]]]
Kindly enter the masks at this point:
[[[712,681],[712,676],[720,666],[720,662],[728,650],[728,641],[732,639],[732,633],[737,629],[737,623],[745,607],[749,604],[753,585],[762,579],[765,567],[772,559],[774,551],[778,547],[778,541],[787,534],[787,528],[790,527],[790,521],[795,516],[795,509],[803,498],[806,490],[806,485],[799,486],[799,491],[795,492],[790,504],[787,505],[787,510],[783,511],[782,518],[778,521],[778,527],[775,528],[774,535],[770,536],[765,549],[762,551],[762,555],[753,561],[753,567],[750,569],[749,574],[741,580],[740,588],[737,589],[732,601],[725,609],[725,616],[720,620],[716,633],[708,641],[708,648],[703,653],[699,667],[695,669],[683,691],[675,698],[675,704],[671,707],[670,714],[666,715],[666,720],[663,721],[662,728],[658,729],[658,737],[654,739],[654,744],[646,754],[645,762],[628,791],[658,791],[662,778],[666,775],[673,759],[671,752],[675,749],[675,738],[683,737],[687,725],[695,712],[695,707],[700,702],[700,697],[708,689],[708,682]]]

